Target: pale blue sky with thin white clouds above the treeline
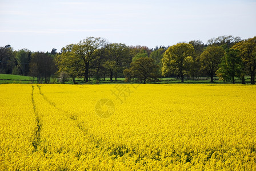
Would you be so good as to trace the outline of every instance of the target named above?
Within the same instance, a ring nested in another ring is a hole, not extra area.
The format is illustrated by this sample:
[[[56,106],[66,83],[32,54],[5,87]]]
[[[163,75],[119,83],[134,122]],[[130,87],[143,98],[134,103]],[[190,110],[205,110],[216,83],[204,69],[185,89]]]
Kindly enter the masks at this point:
[[[0,0],[0,46],[58,51],[87,36],[154,48],[256,36],[256,0]]]

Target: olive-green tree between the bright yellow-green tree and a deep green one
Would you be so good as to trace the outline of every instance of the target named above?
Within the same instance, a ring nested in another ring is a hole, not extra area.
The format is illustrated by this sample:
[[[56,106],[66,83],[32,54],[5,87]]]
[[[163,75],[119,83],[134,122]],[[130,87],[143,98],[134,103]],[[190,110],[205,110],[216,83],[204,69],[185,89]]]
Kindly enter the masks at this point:
[[[199,56],[201,71],[210,76],[211,83],[213,83],[213,77],[215,72],[218,70],[218,66],[221,63],[224,52],[225,51],[222,47],[208,46]]]

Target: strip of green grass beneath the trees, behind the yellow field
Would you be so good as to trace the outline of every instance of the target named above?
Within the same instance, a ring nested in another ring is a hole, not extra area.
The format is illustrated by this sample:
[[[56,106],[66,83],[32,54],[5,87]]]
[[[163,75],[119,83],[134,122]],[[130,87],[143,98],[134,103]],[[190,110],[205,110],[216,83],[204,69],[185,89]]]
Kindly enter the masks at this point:
[[[11,75],[11,74],[0,74],[0,84],[31,84],[33,83],[33,78],[31,76],[22,76],[22,75]],[[99,84],[126,84],[124,82],[125,78],[118,78],[117,82],[115,82],[115,79],[113,78],[113,82],[110,82],[110,78],[105,78],[105,81],[103,79],[100,80]],[[77,78],[75,81],[78,84],[86,84],[85,81],[83,81],[83,78]],[[51,79],[51,83],[61,84],[57,82],[57,79]],[[89,83],[87,84],[96,84],[95,79],[90,79]],[[147,84],[150,82],[147,82]],[[159,82],[151,82],[150,84],[176,84],[181,83],[181,80],[175,79],[175,78],[162,78]],[[184,83],[189,84],[206,84],[210,83],[210,78],[202,77],[197,78],[195,80],[190,78],[185,78]],[[214,78],[214,83],[216,84],[230,84],[231,82],[223,82],[222,80],[218,80],[217,77]],[[238,78],[235,80],[235,83],[241,84],[241,80]],[[246,76],[246,83],[250,84],[250,76]],[[66,82],[65,84],[73,84],[73,81],[70,79],[69,82]]]

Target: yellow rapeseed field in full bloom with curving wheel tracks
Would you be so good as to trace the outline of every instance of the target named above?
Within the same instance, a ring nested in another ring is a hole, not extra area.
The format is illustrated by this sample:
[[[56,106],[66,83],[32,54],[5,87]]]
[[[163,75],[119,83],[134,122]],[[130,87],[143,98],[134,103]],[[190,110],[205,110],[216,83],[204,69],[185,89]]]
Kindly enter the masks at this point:
[[[0,170],[256,170],[256,87],[0,85]]]

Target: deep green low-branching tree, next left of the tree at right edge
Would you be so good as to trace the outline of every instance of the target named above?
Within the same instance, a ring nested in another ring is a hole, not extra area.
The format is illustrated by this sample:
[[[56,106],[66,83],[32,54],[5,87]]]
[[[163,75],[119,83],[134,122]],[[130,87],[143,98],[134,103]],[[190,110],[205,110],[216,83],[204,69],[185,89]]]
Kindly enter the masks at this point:
[[[235,84],[235,77],[241,78],[242,66],[239,51],[232,48],[226,49],[216,74],[220,80],[232,81]]]

